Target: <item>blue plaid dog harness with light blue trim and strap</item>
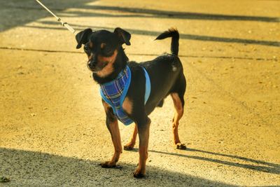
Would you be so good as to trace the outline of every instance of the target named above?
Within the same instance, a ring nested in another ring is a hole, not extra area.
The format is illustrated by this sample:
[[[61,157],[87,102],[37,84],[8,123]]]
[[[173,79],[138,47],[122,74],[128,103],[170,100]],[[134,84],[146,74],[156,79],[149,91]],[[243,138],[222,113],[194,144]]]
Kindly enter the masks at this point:
[[[151,93],[151,82],[148,72],[142,67],[146,77],[146,92],[145,92],[145,104],[148,101]],[[123,71],[118,74],[117,78],[109,83],[100,85],[100,95],[102,99],[113,109],[113,113],[117,116],[118,120],[125,125],[130,125],[133,120],[130,119],[125,111],[123,111],[123,101],[127,95],[128,88],[130,88],[131,71],[130,67],[126,66]]]

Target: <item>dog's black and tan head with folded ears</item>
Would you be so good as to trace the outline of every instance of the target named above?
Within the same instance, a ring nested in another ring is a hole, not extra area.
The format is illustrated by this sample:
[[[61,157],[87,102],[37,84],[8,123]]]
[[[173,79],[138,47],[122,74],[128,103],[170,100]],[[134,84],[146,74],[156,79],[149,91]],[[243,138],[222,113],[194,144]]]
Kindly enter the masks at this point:
[[[78,42],[76,48],[84,45],[88,57],[87,67],[94,74],[105,77],[115,71],[114,63],[118,53],[123,52],[123,43],[130,46],[130,38],[130,33],[119,27],[114,32],[107,30],[92,32],[92,29],[85,29],[76,35]]]

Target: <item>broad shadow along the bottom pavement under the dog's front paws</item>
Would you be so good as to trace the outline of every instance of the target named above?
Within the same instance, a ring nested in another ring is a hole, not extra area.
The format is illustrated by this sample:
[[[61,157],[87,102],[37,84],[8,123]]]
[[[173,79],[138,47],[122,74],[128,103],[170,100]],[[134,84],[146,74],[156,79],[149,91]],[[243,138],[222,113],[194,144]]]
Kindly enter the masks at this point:
[[[148,166],[145,179],[134,179],[136,165],[120,163],[118,169],[104,169],[99,162],[48,153],[0,148],[0,174],[10,186],[232,186],[196,176]]]

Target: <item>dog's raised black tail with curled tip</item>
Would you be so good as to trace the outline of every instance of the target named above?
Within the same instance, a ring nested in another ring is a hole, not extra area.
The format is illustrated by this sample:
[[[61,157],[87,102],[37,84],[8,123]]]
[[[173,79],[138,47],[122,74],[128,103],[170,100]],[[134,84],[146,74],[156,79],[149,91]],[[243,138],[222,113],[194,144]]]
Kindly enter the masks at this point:
[[[178,56],[178,53],[179,53],[179,32],[177,31],[177,29],[170,28],[170,29],[168,29],[168,31],[160,34],[160,36],[158,36],[155,40],[162,40],[162,39],[166,39],[166,38],[169,38],[169,37],[172,37],[171,52],[172,52],[173,55]]]

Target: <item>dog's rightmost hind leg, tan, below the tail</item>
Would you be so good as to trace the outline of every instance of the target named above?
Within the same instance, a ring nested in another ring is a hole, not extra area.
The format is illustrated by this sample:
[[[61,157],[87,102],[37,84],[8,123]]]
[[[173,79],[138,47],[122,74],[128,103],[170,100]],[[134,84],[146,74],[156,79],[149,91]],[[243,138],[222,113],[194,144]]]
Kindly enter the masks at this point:
[[[179,133],[178,133],[179,120],[183,116],[183,106],[184,106],[183,95],[179,95],[179,93],[174,92],[171,94],[171,97],[173,99],[174,108],[175,108],[175,114],[174,114],[174,118],[172,120],[174,144],[176,145],[176,148],[178,148],[178,149],[186,149],[186,145],[181,144],[181,141],[179,139]]]

